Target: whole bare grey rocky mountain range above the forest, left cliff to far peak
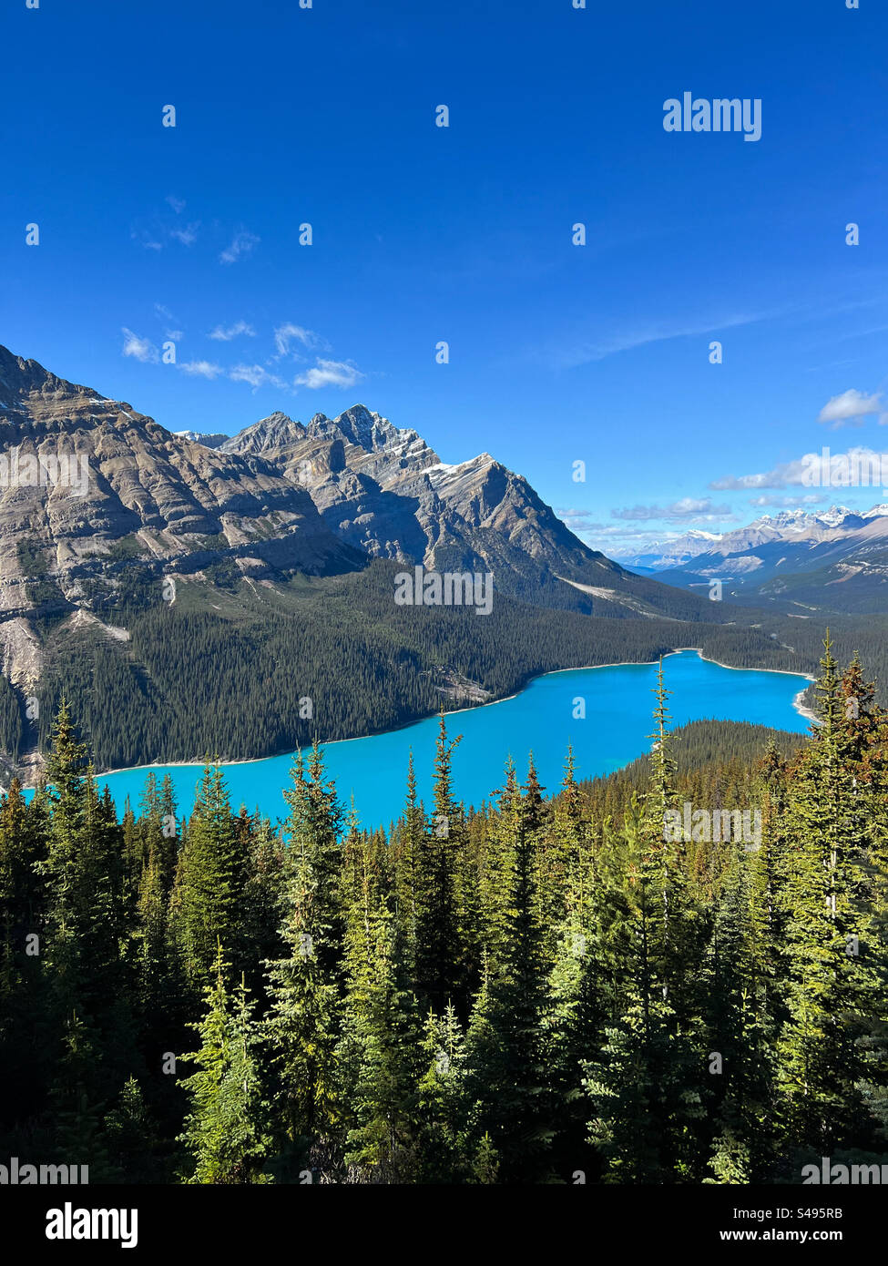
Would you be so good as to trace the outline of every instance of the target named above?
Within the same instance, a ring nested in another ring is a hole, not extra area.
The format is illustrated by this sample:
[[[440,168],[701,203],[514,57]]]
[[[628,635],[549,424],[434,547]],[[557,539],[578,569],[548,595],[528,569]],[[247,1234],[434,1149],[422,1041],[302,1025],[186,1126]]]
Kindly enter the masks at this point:
[[[53,637],[98,624],[125,638],[114,610],[151,605],[170,577],[267,595],[372,558],[492,571],[498,592],[536,606],[714,614],[589,549],[489,453],[445,463],[364,405],[308,424],[275,413],[232,439],[174,434],[0,347],[0,670],[20,691],[46,670],[35,620]]]

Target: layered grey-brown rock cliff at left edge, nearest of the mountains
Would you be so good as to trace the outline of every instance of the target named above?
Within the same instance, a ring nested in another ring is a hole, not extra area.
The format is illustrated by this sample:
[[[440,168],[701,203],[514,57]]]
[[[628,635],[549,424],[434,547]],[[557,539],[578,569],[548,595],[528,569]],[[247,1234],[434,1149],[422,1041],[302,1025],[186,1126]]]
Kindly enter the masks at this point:
[[[308,491],[258,456],[210,451],[127,403],[0,347],[0,613],[90,605],[115,568],[143,560],[195,572],[323,575],[364,558]]]

